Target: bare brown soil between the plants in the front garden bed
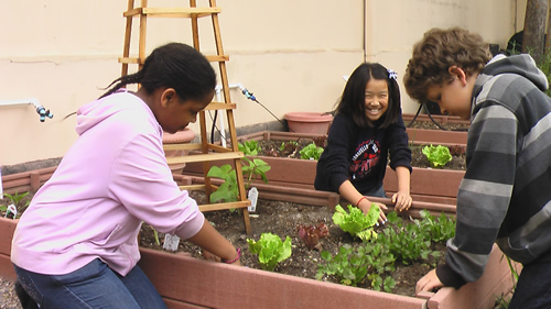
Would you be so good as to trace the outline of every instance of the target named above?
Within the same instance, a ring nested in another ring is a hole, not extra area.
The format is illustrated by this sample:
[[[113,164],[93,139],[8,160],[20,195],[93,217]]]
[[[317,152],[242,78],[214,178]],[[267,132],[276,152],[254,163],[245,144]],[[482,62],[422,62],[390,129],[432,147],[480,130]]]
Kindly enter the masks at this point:
[[[202,194],[192,192],[198,202],[204,202]],[[290,236],[292,241],[292,255],[290,258],[281,262],[274,269],[277,273],[315,279],[318,265],[322,263],[321,251],[328,251],[333,255],[338,252],[338,249],[344,244],[358,246],[361,241],[352,238],[341,228],[333,223],[333,211],[327,207],[307,206],[292,202],[273,201],[261,199],[262,192],[259,192],[260,199],[257,203],[255,212],[250,212],[250,223],[252,233],[247,235],[245,232],[245,223],[242,213],[239,211],[220,210],[205,212],[207,220],[236,247],[242,251],[242,265],[251,268],[260,269],[258,256],[249,252],[247,239],[258,241],[261,233],[272,233],[279,235],[281,240]],[[345,208],[346,209],[346,208]],[[407,219],[408,220],[408,219]],[[329,235],[320,240],[320,245],[316,249],[307,249],[303,241],[299,238],[298,228],[300,225],[317,225],[325,223],[328,228]],[[382,227],[377,230],[381,230]],[[153,230],[144,225],[141,233],[141,245],[152,249],[162,250],[163,235],[160,236],[161,245],[155,244]],[[434,250],[442,251],[443,244],[439,244]],[[191,253],[192,256],[202,258],[201,249],[187,243],[181,242],[177,251]],[[413,296],[415,283],[424,274],[426,274],[436,263],[442,262],[431,260],[431,262],[415,262],[411,265],[396,263],[396,272],[389,273],[397,285],[392,293]],[[323,280],[338,283],[335,278],[324,276]],[[370,288],[369,283],[365,282],[360,285],[361,288]]]

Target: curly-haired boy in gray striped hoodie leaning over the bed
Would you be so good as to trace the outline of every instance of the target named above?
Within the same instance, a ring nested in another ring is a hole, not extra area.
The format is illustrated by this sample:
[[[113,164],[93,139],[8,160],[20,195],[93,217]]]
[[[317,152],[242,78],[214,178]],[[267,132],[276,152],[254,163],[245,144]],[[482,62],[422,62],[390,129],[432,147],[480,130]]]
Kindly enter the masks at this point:
[[[551,308],[551,99],[527,55],[491,57],[463,29],[433,29],[413,46],[408,95],[471,120],[467,170],[457,192],[445,264],[417,291],[478,279],[493,244],[523,265],[509,308]]]

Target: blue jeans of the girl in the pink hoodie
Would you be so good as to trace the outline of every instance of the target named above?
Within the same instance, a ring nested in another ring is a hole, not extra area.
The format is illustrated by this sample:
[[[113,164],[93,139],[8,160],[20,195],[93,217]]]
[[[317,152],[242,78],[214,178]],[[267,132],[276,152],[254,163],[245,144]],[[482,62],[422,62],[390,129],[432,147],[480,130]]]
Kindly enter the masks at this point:
[[[23,288],[43,309],[166,308],[138,265],[126,276],[99,258],[66,275],[42,275],[13,266]]]

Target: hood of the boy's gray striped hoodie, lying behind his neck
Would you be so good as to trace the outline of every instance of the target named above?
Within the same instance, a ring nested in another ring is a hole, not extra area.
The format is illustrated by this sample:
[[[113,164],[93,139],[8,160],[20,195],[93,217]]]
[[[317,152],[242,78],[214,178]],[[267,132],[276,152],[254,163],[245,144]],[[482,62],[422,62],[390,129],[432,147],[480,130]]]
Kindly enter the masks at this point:
[[[484,67],[477,78],[474,93],[475,97],[482,90],[482,87],[489,79],[503,75],[515,74],[530,80],[538,89],[545,91],[549,88],[549,81],[543,71],[537,66],[533,58],[528,54],[514,56],[497,55]]]

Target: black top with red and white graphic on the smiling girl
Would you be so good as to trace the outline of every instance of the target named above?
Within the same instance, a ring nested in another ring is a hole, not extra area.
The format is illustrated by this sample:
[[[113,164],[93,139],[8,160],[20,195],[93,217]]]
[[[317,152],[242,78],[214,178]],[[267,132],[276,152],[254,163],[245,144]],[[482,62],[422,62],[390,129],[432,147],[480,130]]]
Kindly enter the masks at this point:
[[[390,126],[377,129],[359,128],[352,118],[337,114],[317,162],[314,187],[338,192],[338,187],[350,180],[361,194],[379,189],[389,157],[393,169],[406,166],[411,170],[411,150],[401,115]]]

